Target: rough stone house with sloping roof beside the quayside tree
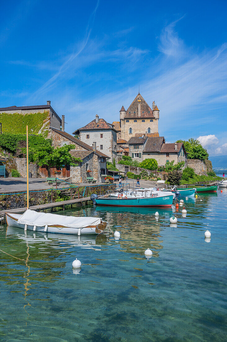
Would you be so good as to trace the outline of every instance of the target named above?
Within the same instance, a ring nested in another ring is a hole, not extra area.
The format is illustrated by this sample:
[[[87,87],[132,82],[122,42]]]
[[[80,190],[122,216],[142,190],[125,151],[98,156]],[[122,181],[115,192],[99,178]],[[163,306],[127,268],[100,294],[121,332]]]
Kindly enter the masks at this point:
[[[76,139],[69,133],[52,128],[48,138],[52,139],[52,145],[61,147],[65,144],[73,144],[75,147],[70,153],[83,160],[76,167],[70,166],[70,177],[75,182],[87,182],[87,177],[94,177],[101,182],[101,174],[107,174],[107,159],[109,157],[96,149],[96,145],[89,146],[83,141]],[[88,172],[90,171],[90,172]]]

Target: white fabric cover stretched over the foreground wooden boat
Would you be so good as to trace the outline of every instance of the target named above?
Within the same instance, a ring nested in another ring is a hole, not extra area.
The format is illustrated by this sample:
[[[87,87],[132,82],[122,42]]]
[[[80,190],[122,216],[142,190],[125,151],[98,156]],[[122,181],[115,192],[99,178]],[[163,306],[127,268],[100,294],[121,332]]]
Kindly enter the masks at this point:
[[[27,209],[17,222],[38,227],[43,227],[47,224],[49,226],[61,225],[70,228],[84,228],[97,226],[101,222],[101,218],[38,213],[37,211]]]

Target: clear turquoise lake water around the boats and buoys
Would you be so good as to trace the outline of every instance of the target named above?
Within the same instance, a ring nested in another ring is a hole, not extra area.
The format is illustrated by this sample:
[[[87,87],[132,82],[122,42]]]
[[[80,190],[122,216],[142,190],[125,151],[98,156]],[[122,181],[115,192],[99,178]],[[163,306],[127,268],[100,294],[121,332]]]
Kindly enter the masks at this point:
[[[177,227],[171,210],[97,209],[58,214],[101,216],[118,241],[0,228],[0,249],[26,260],[0,252],[0,340],[225,341],[226,189],[188,201]]]

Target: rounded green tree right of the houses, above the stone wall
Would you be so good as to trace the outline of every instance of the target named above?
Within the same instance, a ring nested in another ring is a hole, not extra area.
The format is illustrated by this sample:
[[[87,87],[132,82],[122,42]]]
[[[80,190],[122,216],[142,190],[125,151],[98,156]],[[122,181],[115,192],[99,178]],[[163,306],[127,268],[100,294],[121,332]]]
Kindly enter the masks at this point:
[[[177,143],[183,143],[188,154],[188,159],[200,159],[205,160],[208,159],[209,154],[207,150],[202,147],[199,140],[190,138],[188,141],[178,140]]]

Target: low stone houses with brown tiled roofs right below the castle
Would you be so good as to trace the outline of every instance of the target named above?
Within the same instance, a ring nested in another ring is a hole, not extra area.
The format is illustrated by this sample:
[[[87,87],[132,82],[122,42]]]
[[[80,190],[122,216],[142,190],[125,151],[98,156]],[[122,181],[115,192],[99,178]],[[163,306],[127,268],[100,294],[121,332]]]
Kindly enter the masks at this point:
[[[174,164],[184,161],[187,166],[187,153],[183,143],[166,144],[164,136],[159,137],[132,137],[128,141],[129,156],[138,162],[144,159],[154,158],[158,166],[163,166],[167,161],[174,160]]]

